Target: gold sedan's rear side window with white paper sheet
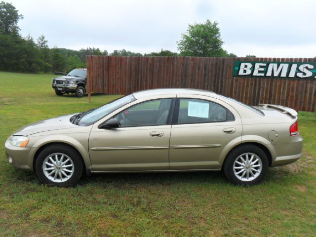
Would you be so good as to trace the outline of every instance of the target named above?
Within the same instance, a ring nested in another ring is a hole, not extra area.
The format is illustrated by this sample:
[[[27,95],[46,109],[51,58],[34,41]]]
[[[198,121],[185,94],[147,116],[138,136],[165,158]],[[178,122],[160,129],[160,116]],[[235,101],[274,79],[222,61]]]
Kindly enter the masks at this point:
[[[199,99],[180,99],[178,123],[223,122],[235,120],[225,107]]]

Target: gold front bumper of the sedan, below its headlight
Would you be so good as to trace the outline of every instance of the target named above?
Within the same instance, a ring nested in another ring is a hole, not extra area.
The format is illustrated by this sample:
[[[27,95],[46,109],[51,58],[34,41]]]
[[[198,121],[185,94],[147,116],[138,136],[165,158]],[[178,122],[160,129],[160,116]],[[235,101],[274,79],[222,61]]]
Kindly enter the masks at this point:
[[[14,167],[24,170],[33,170],[33,161],[30,159],[32,149],[30,147],[16,147],[9,142],[5,142],[5,155],[9,163]]]

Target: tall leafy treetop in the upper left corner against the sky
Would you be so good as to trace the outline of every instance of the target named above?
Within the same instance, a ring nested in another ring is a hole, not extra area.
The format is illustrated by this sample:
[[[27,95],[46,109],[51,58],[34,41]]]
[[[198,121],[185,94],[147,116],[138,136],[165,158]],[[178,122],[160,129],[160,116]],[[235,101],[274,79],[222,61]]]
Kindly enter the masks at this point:
[[[23,19],[23,15],[8,2],[0,2],[0,34],[9,35],[18,34],[20,28],[18,22]]]

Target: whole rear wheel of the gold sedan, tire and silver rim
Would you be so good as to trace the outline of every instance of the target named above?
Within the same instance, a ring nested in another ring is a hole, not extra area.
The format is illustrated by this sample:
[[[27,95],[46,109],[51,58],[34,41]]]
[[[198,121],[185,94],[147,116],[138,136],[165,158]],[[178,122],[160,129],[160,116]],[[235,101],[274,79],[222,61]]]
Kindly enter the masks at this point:
[[[244,145],[228,155],[224,173],[234,184],[255,185],[265,178],[268,167],[269,161],[264,151],[254,145]]]

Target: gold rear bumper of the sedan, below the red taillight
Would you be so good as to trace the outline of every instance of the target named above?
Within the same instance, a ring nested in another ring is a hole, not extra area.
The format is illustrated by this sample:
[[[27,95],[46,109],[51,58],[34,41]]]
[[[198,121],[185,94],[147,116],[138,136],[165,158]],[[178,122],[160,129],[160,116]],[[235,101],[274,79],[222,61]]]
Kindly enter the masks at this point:
[[[274,144],[276,158],[272,161],[272,167],[290,164],[302,157],[303,138],[295,135],[291,137],[291,140],[289,143]]]

